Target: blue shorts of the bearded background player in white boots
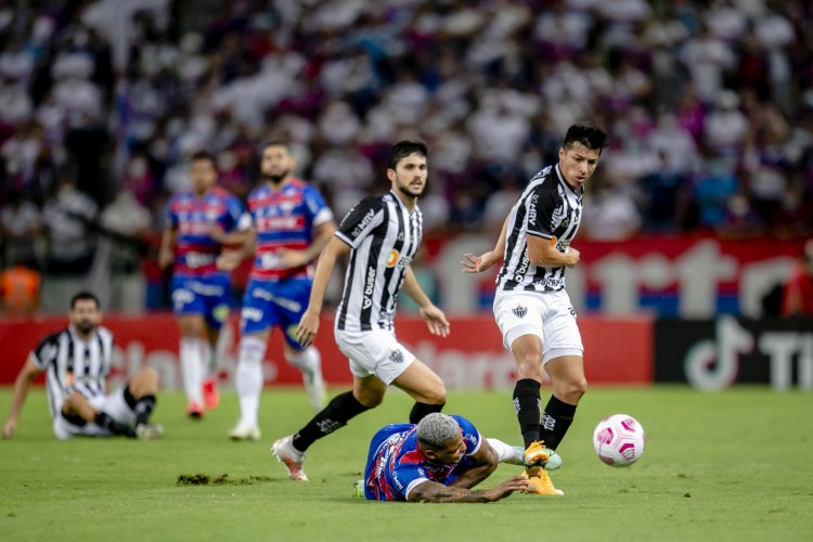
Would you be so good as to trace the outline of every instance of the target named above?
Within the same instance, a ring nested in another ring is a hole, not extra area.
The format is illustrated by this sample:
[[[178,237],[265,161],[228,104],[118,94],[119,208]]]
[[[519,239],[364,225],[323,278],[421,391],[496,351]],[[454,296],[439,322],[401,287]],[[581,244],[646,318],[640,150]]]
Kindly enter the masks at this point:
[[[310,287],[310,280],[273,282],[251,279],[243,296],[241,333],[246,335],[280,327],[285,341],[301,350],[296,340],[296,328],[308,308]]]

